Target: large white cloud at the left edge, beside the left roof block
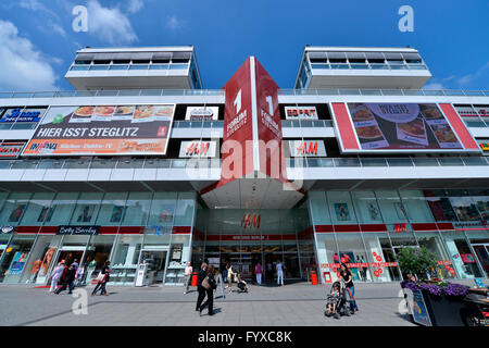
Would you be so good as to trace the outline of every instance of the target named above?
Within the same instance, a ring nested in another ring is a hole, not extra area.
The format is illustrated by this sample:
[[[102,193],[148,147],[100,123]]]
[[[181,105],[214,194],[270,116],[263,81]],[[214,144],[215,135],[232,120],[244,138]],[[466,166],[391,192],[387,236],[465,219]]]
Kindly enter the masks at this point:
[[[14,24],[0,20],[0,90],[54,90],[57,76],[46,58]]]

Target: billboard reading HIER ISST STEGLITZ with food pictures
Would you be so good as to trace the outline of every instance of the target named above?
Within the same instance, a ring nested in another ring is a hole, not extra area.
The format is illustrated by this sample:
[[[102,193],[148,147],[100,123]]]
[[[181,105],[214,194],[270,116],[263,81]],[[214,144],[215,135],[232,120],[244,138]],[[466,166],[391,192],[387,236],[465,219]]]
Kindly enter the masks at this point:
[[[23,156],[165,154],[175,104],[52,107]]]

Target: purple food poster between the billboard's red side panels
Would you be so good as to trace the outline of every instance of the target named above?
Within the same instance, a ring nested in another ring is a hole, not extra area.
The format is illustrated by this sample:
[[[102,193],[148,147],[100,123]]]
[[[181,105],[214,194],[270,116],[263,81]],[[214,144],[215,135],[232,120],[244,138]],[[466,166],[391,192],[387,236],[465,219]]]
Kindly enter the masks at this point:
[[[435,103],[348,103],[361,150],[463,149]]]

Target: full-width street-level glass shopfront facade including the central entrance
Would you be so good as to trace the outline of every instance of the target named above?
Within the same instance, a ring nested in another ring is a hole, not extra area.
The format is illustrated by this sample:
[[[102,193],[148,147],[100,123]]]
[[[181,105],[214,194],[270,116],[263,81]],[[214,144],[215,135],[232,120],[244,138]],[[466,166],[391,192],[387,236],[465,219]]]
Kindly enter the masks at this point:
[[[1,192],[0,283],[46,284],[61,260],[87,268],[90,283],[110,260],[111,282],[134,285],[138,264],[149,283],[181,284],[184,265],[227,263],[254,281],[334,282],[340,262],[355,282],[403,278],[402,248],[435,253],[441,278],[487,277],[489,192],[485,190],[310,191],[293,209],[205,209],[191,191]],[[98,226],[95,235],[61,235],[59,226]]]

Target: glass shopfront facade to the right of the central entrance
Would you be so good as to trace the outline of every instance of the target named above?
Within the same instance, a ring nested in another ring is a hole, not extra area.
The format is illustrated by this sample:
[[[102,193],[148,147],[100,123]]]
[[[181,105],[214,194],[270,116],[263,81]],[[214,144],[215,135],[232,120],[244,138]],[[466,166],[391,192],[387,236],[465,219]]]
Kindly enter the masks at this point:
[[[319,276],[336,281],[347,262],[356,282],[400,281],[399,251],[426,247],[440,278],[487,277],[488,199],[480,190],[310,191]]]

